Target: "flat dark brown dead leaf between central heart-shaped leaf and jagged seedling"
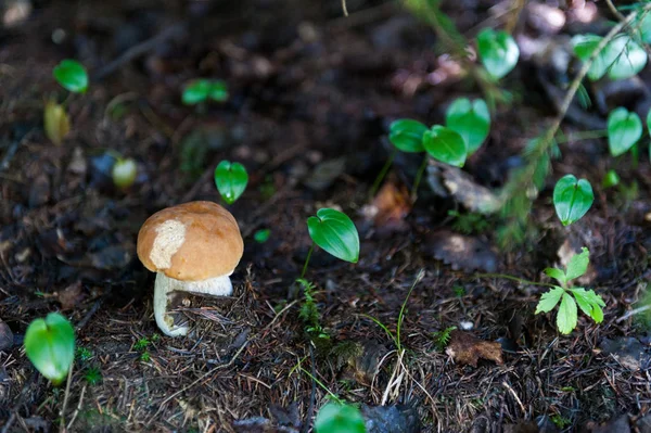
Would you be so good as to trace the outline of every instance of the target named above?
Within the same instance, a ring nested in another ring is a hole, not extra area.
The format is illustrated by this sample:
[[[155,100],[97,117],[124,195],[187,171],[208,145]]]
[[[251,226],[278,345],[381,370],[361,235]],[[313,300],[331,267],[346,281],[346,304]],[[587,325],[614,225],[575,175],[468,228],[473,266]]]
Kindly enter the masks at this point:
[[[455,270],[497,270],[497,253],[477,238],[438,230],[426,235],[422,250],[446,265],[451,265]]]

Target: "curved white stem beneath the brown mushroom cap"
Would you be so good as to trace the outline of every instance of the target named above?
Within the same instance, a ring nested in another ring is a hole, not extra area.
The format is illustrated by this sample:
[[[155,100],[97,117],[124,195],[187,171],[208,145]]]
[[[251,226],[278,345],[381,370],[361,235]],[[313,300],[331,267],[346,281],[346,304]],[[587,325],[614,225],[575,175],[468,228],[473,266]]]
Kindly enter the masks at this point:
[[[156,273],[154,284],[154,317],[161,331],[169,336],[181,336],[188,333],[189,327],[174,326],[174,317],[167,314],[167,303],[170,292],[189,292],[196,295],[229,296],[233,293],[230,273],[222,277],[209,278],[202,281],[181,281]]]

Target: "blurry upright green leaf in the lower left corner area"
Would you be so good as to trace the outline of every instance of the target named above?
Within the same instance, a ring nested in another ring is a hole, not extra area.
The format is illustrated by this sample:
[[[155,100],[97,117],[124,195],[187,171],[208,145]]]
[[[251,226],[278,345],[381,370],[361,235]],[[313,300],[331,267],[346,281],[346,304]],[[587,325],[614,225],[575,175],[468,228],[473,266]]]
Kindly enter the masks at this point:
[[[25,332],[25,353],[34,367],[54,385],[66,379],[75,359],[75,330],[59,313],[36,319]]]

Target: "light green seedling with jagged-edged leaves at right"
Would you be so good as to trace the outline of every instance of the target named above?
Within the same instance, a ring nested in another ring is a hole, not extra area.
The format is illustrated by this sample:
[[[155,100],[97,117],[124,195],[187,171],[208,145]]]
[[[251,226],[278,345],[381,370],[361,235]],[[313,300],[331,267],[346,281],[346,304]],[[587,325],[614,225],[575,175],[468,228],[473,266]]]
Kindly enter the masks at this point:
[[[557,314],[557,327],[563,334],[569,334],[576,328],[578,320],[576,305],[582,311],[590,316],[597,323],[603,320],[603,310],[605,303],[595,293],[593,290],[584,288],[572,288],[570,281],[583,276],[588,269],[590,263],[590,252],[583,247],[580,254],[575,254],[567,264],[565,271],[558,268],[547,268],[545,273],[556,279],[561,285],[553,288],[540,296],[536,314],[551,311],[559,302],[559,313]]]

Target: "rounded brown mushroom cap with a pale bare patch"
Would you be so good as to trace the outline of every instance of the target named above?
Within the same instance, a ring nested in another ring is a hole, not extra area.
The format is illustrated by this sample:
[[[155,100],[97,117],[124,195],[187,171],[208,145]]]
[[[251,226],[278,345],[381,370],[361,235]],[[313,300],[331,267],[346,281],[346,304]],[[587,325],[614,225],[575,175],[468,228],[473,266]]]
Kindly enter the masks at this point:
[[[243,252],[235,218],[213,202],[159,211],[138,233],[138,257],[144,267],[181,281],[230,275]]]

